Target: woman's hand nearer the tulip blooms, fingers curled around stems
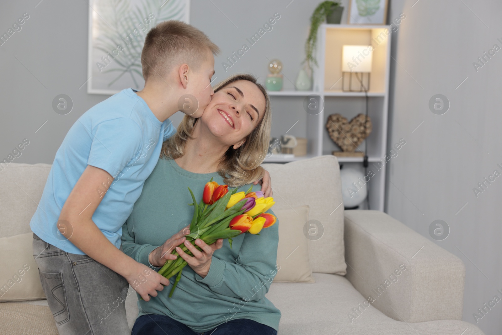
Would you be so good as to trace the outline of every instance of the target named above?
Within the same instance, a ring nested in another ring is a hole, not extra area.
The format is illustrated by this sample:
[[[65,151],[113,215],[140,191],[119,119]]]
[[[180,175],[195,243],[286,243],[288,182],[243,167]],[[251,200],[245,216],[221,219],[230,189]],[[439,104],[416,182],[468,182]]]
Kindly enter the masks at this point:
[[[179,247],[176,247],[176,251],[181,256],[181,258],[183,258],[188,263],[192,270],[195,271],[196,274],[204,278],[205,276],[207,276],[209,268],[211,267],[211,258],[214,251],[223,247],[223,239],[217,239],[216,242],[210,246],[208,246],[201,239],[195,240],[195,244],[199,246],[202,251],[195,248],[195,246],[190,242],[185,241],[185,246],[188,248],[188,250],[190,250],[193,257],[187,255]]]

